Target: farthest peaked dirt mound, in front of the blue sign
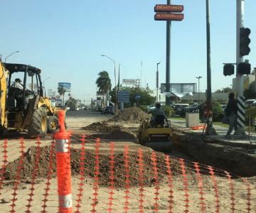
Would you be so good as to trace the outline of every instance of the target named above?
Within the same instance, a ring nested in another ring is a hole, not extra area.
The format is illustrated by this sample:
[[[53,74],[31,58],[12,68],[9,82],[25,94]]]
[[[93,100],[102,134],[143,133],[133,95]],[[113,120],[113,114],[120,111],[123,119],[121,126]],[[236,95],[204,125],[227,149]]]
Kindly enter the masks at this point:
[[[138,107],[129,107],[124,109],[121,113],[115,115],[110,121],[132,121],[135,123],[140,123],[148,118],[148,114],[146,114],[142,109]]]

